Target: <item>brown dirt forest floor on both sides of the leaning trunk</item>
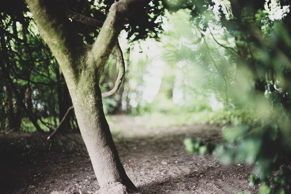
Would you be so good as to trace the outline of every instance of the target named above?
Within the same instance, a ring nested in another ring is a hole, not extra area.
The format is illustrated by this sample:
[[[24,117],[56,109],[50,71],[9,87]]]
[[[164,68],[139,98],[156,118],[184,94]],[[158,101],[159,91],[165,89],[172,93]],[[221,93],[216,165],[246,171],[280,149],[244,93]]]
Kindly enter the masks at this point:
[[[223,165],[211,155],[187,154],[183,140],[221,140],[222,126],[146,127],[139,117],[110,116],[109,125],[128,177],[139,193],[257,193],[253,167]],[[141,124],[143,123],[143,124]],[[80,134],[59,132],[51,151],[48,134],[0,133],[0,193],[90,194],[100,187]]]

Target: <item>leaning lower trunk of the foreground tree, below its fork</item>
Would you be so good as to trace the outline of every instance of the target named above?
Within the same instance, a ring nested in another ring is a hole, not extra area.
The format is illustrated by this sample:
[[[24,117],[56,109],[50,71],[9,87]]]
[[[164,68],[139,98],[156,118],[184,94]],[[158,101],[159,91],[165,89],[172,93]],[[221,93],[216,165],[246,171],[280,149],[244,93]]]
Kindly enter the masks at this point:
[[[103,112],[98,80],[84,77],[81,83],[86,87],[81,84],[71,96],[79,128],[99,184],[105,186],[107,183],[120,182],[135,190],[136,187],[127,177],[113,143]]]

